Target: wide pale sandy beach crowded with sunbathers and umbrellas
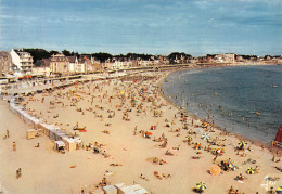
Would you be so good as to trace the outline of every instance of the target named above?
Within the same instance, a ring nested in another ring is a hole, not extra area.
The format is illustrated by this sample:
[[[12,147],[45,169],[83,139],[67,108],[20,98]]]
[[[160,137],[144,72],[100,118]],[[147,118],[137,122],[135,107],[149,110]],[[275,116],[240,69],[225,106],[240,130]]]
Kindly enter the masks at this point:
[[[210,194],[228,193],[231,185],[245,194],[266,193],[271,186],[282,185],[282,180],[275,179],[281,178],[281,171],[274,168],[282,168],[281,161],[275,163],[280,153],[249,140],[244,151],[236,150],[243,137],[203,127],[202,121],[181,114],[158,90],[159,81],[168,74],[90,81],[25,96],[21,104],[29,115],[82,140],[79,150],[65,154],[54,151],[54,142],[43,133],[27,140],[30,127],[9,109],[8,102],[0,101],[2,190],[80,193],[93,191],[103,177],[110,184],[139,183],[155,194],[194,193],[197,182],[204,182],[204,193]],[[86,127],[86,131],[73,130],[75,126]],[[202,139],[204,133],[208,140]],[[187,137],[192,138],[189,143]],[[35,147],[37,143],[39,147]],[[194,148],[196,143],[201,143],[201,150]],[[94,148],[100,153],[93,153]],[[216,156],[217,148],[225,153]],[[228,160],[230,168],[222,167],[219,174],[209,172],[213,166]],[[257,167],[258,173],[246,173],[249,167]],[[16,179],[18,168],[22,177]],[[234,180],[240,173],[246,179]]]

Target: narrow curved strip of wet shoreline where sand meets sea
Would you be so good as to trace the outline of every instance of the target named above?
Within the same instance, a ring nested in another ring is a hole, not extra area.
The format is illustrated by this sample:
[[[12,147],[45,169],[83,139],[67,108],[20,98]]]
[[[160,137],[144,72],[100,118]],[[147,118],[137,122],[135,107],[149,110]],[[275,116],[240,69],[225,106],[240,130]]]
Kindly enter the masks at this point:
[[[205,67],[200,67],[200,68],[221,68],[221,67],[229,67],[230,65],[223,65],[223,66],[205,66]],[[242,66],[246,66],[246,65],[242,65]],[[253,65],[249,65],[249,66],[253,66]],[[188,114],[192,119],[195,119],[195,120],[200,120],[201,122],[208,122],[206,121],[204,118],[200,117],[200,116],[196,116],[192,113],[189,113],[184,107],[181,107],[181,106],[178,106],[172,100],[169,100],[169,98],[167,98],[164,92],[162,91],[162,87],[164,85],[164,81],[167,77],[169,77],[169,75],[174,72],[180,72],[180,70],[187,70],[187,69],[195,69],[193,67],[191,68],[184,68],[184,69],[176,69],[176,70],[171,70],[169,73],[167,73],[167,75],[162,78],[162,80],[159,80],[159,83],[158,83],[158,93],[170,104],[172,105],[174,107],[176,107],[177,109],[179,109],[180,112],[183,112],[185,114]],[[221,131],[221,132],[228,132],[230,135],[233,135],[234,138],[239,139],[239,140],[246,140],[246,141],[249,141],[253,145],[256,145],[256,146],[260,146],[260,147],[265,147],[267,148],[270,153],[272,153],[274,151],[279,151],[280,154],[282,154],[282,148],[281,147],[271,147],[271,142],[267,143],[267,142],[262,142],[260,140],[255,140],[255,139],[249,139],[249,138],[246,138],[244,137],[243,134],[240,134],[240,133],[236,133],[236,132],[231,132],[231,131],[225,131],[222,130],[221,126],[217,125],[217,124],[210,124],[208,122],[213,128]],[[274,141],[274,140],[273,140]]]

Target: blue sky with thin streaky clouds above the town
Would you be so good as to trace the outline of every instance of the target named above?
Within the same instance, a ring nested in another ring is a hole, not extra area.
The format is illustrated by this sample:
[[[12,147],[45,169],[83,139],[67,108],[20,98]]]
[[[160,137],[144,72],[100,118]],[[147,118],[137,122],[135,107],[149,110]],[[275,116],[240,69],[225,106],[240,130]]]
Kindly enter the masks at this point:
[[[0,0],[0,50],[282,54],[282,0]]]

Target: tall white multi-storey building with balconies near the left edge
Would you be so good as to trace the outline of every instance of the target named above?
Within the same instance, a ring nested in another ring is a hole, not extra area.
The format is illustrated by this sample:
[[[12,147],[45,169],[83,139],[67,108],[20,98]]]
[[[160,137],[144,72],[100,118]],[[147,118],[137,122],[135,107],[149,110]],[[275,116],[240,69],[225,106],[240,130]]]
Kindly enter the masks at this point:
[[[31,68],[34,66],[34,59],[28,52],[11,51],[13,69],[15,73],[21,74],[31,74]]]

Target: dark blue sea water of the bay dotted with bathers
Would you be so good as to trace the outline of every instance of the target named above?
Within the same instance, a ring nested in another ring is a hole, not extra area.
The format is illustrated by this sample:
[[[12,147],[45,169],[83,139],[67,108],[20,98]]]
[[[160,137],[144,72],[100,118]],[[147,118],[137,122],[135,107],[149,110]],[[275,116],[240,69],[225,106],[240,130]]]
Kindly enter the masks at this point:
[[[282,124],[282,65],[174,72],[162,90],[189,113],[265,143]]]

